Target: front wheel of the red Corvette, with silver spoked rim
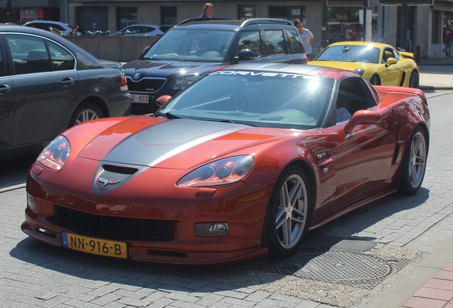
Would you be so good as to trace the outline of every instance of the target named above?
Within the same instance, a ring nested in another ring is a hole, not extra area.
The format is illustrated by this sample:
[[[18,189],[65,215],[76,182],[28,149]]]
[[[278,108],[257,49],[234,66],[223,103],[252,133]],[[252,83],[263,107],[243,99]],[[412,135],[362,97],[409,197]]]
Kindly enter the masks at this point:
[[[310,201],[306,174],[297,166],[286,169],[269,200],[266,227],[271,256],[289,257],[301,246],[311,217]]]

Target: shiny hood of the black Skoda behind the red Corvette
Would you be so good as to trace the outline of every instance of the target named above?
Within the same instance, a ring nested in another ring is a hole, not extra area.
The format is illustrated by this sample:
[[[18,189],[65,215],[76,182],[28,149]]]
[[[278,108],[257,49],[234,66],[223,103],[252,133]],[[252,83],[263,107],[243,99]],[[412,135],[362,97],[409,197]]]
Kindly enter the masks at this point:
[[[167,77],[172,74],[197,75],[212,71],[214,68],[223,66],[223,63],[212,62],[181,62],[181,61],[150,61],[134,60],[123,65],[126,76],[135,76],[136,78],[150,77]]]

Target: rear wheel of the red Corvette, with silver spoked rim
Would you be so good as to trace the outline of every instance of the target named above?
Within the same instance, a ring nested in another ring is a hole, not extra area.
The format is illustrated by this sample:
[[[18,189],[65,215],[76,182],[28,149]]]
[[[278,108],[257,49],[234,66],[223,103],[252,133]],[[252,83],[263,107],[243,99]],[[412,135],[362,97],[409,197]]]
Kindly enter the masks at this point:
[[[414,195],[420,190],[425,177],[428,156],[428,144],[425,131],[415,128],[402,160],[400,193]]]

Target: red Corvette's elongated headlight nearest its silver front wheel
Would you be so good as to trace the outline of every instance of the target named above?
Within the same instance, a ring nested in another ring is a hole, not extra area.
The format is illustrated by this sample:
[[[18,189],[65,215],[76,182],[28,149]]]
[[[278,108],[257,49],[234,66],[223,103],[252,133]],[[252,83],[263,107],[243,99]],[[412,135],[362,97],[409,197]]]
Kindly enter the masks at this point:
[[[236,183],[249,174],[254,165],[252,155],[216,160],[193,170],[177,183],[181,187],[205,187]]]

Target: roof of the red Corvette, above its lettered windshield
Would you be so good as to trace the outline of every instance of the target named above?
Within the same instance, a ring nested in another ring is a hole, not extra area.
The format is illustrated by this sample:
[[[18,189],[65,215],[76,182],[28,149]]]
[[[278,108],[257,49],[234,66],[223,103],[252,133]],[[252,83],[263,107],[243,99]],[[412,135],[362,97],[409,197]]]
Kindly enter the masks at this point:
[[[288,63],[240,63],[231,66],[225,66],[224,70],[241,70],[241,71],[266,71],[274,73],[294,73],[307,76],[318,76],[339,80],[347,76],[358,77],[353,71],[343,70],[340,68],[328,68],[326,66],[308,66]]]

